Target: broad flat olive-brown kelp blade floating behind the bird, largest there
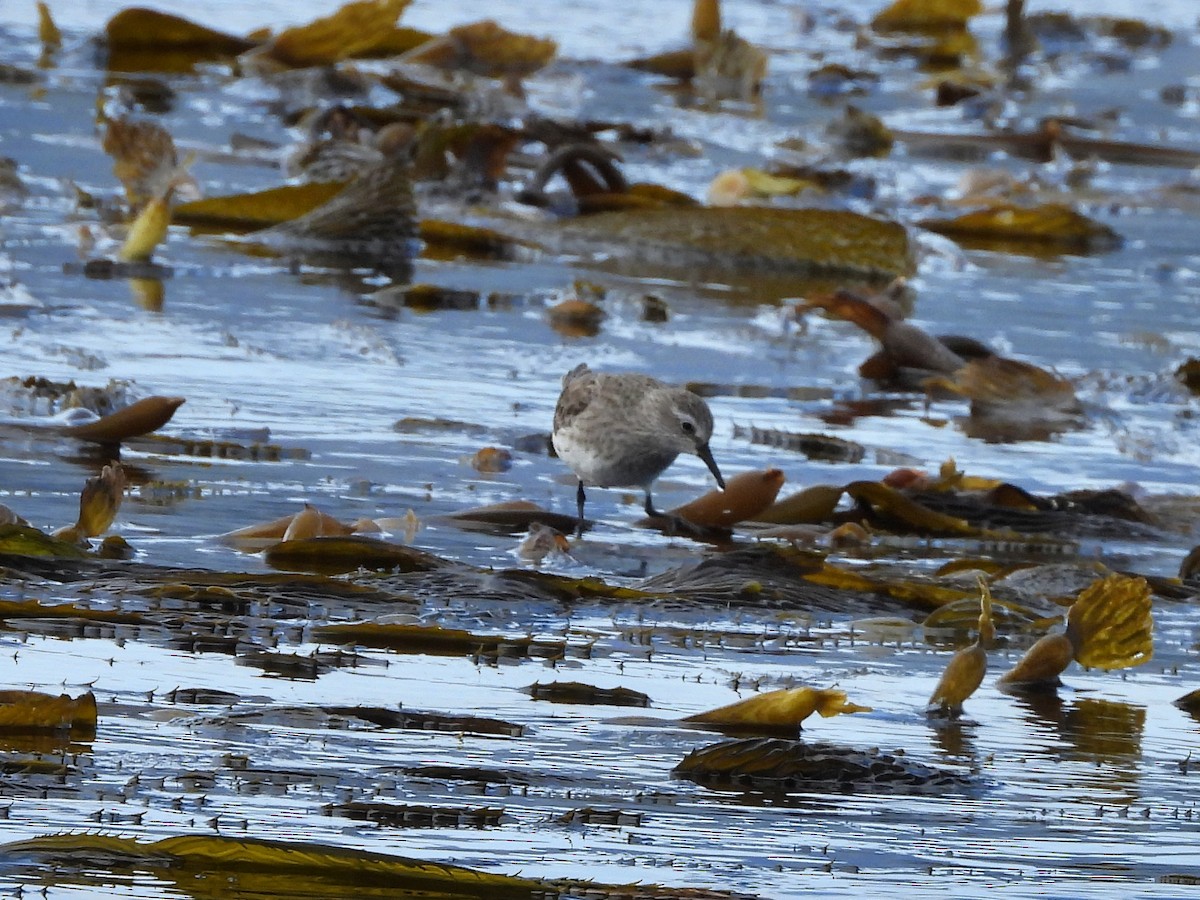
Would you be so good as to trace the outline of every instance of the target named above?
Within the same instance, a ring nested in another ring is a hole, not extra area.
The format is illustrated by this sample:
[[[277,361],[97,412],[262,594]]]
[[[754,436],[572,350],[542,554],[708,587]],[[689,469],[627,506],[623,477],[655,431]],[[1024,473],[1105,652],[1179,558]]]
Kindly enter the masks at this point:
[[[674,208],[600,212],[559,224],[564,241],[617,244],[668,265],[890,281],[912,272],[904,227],[822,209]],[[593,250],[596,248],[593,246]]]

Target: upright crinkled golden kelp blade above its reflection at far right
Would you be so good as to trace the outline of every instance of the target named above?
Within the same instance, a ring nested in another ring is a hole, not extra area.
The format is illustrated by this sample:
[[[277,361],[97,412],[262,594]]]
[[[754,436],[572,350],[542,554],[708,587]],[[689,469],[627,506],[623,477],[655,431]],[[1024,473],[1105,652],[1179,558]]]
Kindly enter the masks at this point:
[[[1114,574],[1080,593],[1067,613],[1075,660],[1090,668],[1130,668],[1154,655],[1150,584]]]

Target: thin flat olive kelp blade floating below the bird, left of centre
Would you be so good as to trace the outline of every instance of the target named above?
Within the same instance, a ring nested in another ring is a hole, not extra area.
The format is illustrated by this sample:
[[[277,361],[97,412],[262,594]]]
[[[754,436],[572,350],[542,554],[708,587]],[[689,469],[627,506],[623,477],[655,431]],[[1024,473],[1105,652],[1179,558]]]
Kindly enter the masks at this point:
[[[533,637],[476,635],[457,628],[440,625],[407,625],[360,622],[319,625],[313,637],[329,643],[378,647],[396,653],[425,653],[436,656],[563,656],[566,644],[562,641],[539,641]]]

